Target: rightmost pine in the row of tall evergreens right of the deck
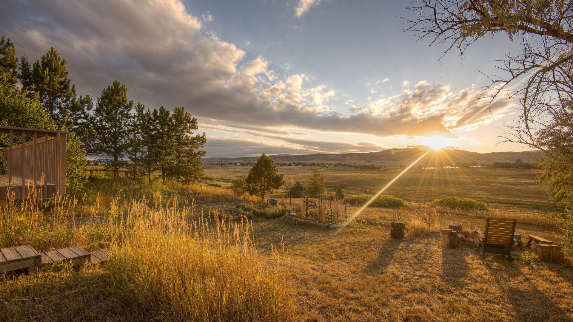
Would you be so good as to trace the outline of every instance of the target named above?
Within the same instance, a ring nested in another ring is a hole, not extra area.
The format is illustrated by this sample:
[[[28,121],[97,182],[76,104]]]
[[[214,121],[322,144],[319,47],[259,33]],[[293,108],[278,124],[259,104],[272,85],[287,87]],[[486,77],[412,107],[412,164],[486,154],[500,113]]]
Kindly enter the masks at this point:
[[[174,154],[171,156],[168,176],[178,181],[198,180],[203,176],[201,156],[204,156],[206,151],[197,149],[205,146],[207,141],[205,133],[191,136],[193,130],[198,129],[197,119],[191,117],[189,112],[185,112],[183,107],[175,107],[170,120]]]

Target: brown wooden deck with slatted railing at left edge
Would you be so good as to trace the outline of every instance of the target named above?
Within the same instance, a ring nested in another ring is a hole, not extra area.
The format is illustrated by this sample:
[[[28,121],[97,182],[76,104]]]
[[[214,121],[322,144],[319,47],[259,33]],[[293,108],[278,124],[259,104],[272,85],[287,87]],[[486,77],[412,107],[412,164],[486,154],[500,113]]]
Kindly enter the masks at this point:
[[[5,180],[0,178],[0,199],[6,199],[7,186],[17,192],[17,198],[26,198],[34,190],[44,198],[66,193],[68,132],[0,126],[0,133],[9,139],[9,146],[2,148]]]

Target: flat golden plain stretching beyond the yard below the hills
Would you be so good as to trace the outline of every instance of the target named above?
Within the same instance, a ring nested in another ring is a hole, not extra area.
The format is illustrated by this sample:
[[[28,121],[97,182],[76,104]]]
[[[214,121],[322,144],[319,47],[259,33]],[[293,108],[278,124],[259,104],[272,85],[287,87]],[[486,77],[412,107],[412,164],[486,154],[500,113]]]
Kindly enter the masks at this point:
[[[319,168],[329,191],[339,184],[347,194],[374,194],[399,174],[398,170],[360,170],[351,167]],[[306,182],[312,167],[279,167],[285,179]],[[472,198],[495,207],[563,210],[551,202],[535,176],[541,170],[494,168],[411,169],[386,193],[406,201],[431,202],[444,197]],[[249,167],[206,167],[205,174],[222,181],[246,176]]]

